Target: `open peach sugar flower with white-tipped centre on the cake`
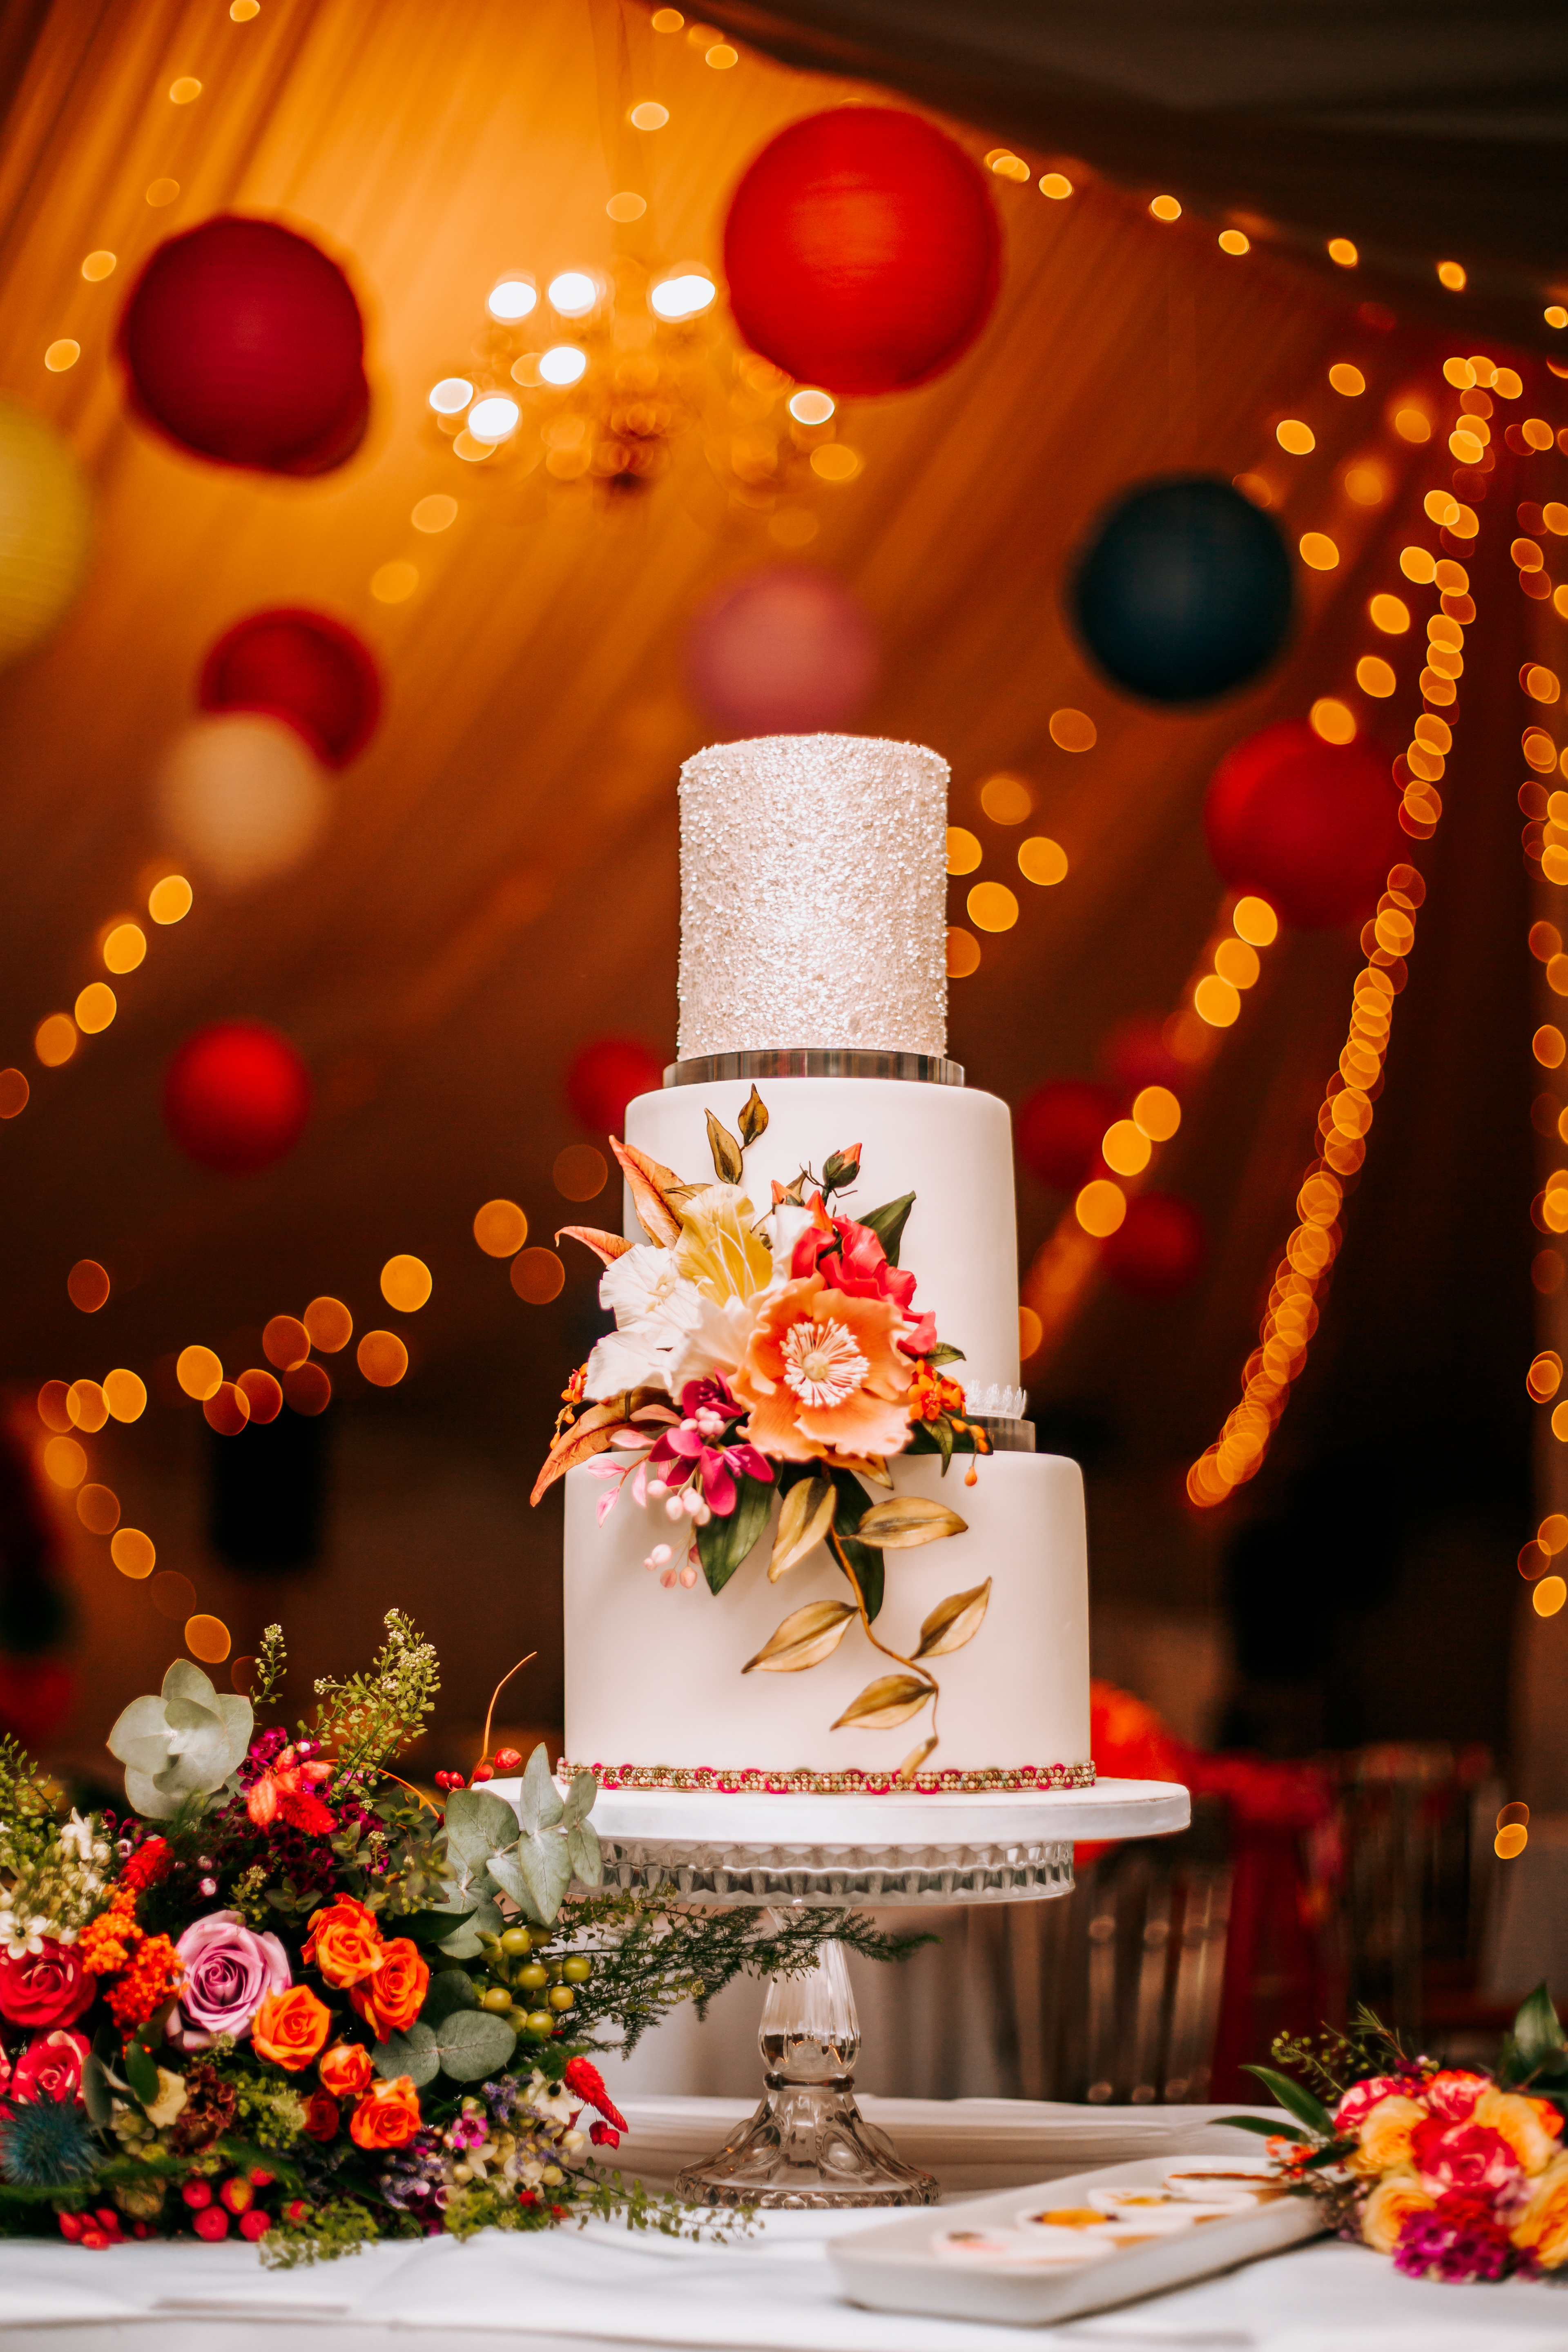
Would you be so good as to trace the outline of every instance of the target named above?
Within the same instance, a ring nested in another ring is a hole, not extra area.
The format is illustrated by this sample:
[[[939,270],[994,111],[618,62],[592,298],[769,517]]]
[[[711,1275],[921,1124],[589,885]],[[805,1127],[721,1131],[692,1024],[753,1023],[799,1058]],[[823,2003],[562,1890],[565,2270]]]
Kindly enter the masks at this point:
[[[898,1348],[903,1308],[853,1298],[820,1275],[785,1282],[762,1303],[731,1378],[750,1404],[748,1435],[778,1461],[818,1454],[898,1454],[910,1437],[912,1362]]]

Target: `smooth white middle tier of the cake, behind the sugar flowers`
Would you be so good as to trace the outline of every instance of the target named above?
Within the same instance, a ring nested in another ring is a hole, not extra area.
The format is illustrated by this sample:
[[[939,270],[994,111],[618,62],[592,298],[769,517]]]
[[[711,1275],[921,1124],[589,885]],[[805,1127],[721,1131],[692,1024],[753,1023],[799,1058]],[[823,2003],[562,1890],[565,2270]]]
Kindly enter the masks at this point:
[[[684,1183],[712,1181],[708,1112],[731,1134],[750,1080],[665,1087],[639,1094],[625,1112],[625,1141]],[[964,1350],[952,1378],[964,1388],[1018,1385],[1018,1225],[1013,1143],[1006,1103],[971,1087],[905,1080],[762,1077],[766,1134],[745,1155],[745,1188],[762,1216],[771,1178],[790,1183],[809,1162],[860,1145],[860,1183],[835,1197],[835,1214],[858,1216],[914,1192],[898,1263],[914,1275],[914,1308],[936,1315],[950,1348]],[[630,1192],[623,1232],[644,1240]],[[976,1404],[976,1411],[985,1406]]]

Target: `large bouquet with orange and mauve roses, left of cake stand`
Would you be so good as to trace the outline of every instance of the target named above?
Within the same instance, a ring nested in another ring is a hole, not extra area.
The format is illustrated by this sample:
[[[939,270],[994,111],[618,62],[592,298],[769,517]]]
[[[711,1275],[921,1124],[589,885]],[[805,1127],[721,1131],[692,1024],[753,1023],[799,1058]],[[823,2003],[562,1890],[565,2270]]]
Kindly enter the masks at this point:
[[[0,1740],[0,2234],[237,2234],[289,2263],[592,2213],[686,2227],[597,2171],[625,2124],[595,2053],[741,1969],[811,1966],[820,1919],[595,1896],[592,1776],[562,1792],[543,1748],[515,1804],[482,1785],[512,1750],[477,1785],[440,1773],[435,1804],[388,1764],[435,1651],[397,1611],[386,1632],[294,1736],[256,1729],[275,1625],[252,1696],[179,1658],[110,1733],[122,1816],[68,1811]]]

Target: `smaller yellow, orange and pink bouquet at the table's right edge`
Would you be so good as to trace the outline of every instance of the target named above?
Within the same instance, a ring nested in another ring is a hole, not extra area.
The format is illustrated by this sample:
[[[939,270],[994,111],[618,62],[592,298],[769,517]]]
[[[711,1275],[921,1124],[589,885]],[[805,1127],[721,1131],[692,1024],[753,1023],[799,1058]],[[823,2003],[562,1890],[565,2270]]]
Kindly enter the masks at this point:
[[[1493,2074],[1410,2058],[1371,2011],[1349,2034],[1281,2039],[1293,2074],[1248,2067],[1295,2122],[1269,2133],[1281,2178],[1324,2199],[1340,2237],[1413,2279],[1549,2277],[1568,2263],[1568,2037],[1544,1985]],[[1314,2089],[1312,2089],[1314,2086]]]

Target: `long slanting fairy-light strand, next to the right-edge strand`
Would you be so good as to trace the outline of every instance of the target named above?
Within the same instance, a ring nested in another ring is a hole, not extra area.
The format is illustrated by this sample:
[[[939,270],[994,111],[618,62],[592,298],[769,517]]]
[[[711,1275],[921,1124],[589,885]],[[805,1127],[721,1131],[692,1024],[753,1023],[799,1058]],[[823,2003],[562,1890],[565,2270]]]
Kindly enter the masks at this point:
[[[1469,553],[1479,517],[1474,506],[1458,496],[1458,489],[1467,487],[1469,470],[1488,470],[1495,400],[1519,400],[1523,381],[1514,369],[1495,367],[1486,355],[1446,360],[1443,379],[1458,390],[1446,437],[1458,473],[1453,485],[1427,492],[1422,510],[1427,522],[1436,527],[1443,548]],[[1469,574],[1453,555],[1434,555],[1429,548],[1410,543],[1399,555],[1399,569],[1408,583],[1436,588],[1439,595],[1439,612],[1427,619],[1427,661],[1420,673],[1422,710],[1410,729],[1410,743],[1394,762],[1401,783],[1399,821],[1413,840],[1429,840],[1443,809],[1436,786],[1453,746],[1458,677],[1465,670],[1465,630],[1474,626],[1476,607],[1469,595]],[[1373,597],[1368,612],[1373,626],[1382,628],[1378,602],[1380,597]],[[1420,873],[1399,861],[1389,868],[1378,910],[1361,934],[1366,962],[1352,988],[1347,1040],[1319,1108],[1319,1152],[1295,1197],[1298,1221],[1274,1268],[1258,1348],[1241,1369],[1241,1399],[1225,1416],[1218,1439],[1199,1454],[1187,1472],[1187,1496],[1199,1510],[1213,1510],[1258,1475],[1291,1399],[1291,1388],[1307,1364],[1321,1298],[1342,1242],[1340,1211],[1366,1160],[1366,1136],[1382,1091],[1394,1000],[1406,985],[1406,957],[1415,946],[1415,917],[1422,898]]]

